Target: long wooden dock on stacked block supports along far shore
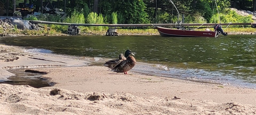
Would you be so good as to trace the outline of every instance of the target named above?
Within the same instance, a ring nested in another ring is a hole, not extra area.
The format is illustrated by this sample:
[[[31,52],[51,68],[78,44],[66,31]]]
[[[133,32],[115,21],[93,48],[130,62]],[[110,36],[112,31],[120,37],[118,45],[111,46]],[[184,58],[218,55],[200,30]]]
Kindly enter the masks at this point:
[[[60,23],[60,22],[47,22],[47,21],[35,21],[29,20],[30,23],[35,24],[56,24],[56,25],[68,25],[69,31],[68,33],[71,35],[76,35],[79,33],[77,31],[78,26],[107,26],[109,30],[106,32],[107,36],[115,36],[118,35],[116,29],[148,29],[158,27],[166,27],[166,28],[183,28],[192,30],[195,28],[213,28],[215,23],[204,23],[204,24],[77,24],[77,23]],[[256,28],[256,23],[221,23],[223,28],[225,27],[252,27]],[[70,28],[73,27],[73,28]],[[74,28],[76,27],[76,28]],[[75,33],[75,34],[73,34]]]

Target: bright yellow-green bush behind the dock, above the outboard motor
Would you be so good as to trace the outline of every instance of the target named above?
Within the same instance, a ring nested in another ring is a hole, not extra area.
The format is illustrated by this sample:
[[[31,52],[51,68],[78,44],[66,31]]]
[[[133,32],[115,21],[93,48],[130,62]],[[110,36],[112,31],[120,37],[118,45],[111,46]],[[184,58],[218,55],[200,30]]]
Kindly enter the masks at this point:
[[[253,22],[252,20],[252,15],[248,16],[242,16],[237,14],[236,11],[226,9],[223,13],[220,13],[220,19],[221,23],[250,23]],[[219,22],[219,15],[215,14],[213,17],[210,19],[210,23],[220,23]]]

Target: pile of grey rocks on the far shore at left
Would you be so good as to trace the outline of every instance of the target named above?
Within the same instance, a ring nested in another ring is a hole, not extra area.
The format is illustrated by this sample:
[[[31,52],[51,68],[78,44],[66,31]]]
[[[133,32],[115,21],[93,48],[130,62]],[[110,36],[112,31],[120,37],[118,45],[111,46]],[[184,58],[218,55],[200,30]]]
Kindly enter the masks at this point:
[[[27,20],[20,20],[19,18],[0,19],[0,27],[2,27],[4,31],[7,29],[13,29],[15,26],[21,30],[42,30],[38,25],[32,24]]]

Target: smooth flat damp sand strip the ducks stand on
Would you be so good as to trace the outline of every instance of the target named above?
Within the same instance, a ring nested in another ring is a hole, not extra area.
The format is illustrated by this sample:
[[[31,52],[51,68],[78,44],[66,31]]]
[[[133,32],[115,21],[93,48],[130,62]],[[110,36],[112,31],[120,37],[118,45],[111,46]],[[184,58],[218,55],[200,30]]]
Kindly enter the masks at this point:
[[[217,84],[196,83],[166,77],[116,74],[106,67],[69,67],[33,69],[48,72],[54,87],[80,92],[130,93],[145,97],[180,97],[190,100],[213,100],[217,103],[239,102],[256,105],[256,90]],[[63,72],[64,71],[64,72]],[[254,101],[252,101],[254,100]]]

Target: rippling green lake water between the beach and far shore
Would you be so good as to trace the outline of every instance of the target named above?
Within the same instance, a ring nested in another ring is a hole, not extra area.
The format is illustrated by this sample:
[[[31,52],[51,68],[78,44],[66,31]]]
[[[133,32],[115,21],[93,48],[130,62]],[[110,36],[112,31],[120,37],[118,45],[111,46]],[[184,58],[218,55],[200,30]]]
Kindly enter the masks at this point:
[[[130,49],[132,71],[178,79],[256,88],[255,35],[219,38],[161,36],[39,36],[0,43],[45,49],[46,53],[114,59]],[[98,60],[101,61],[101,60]]]

